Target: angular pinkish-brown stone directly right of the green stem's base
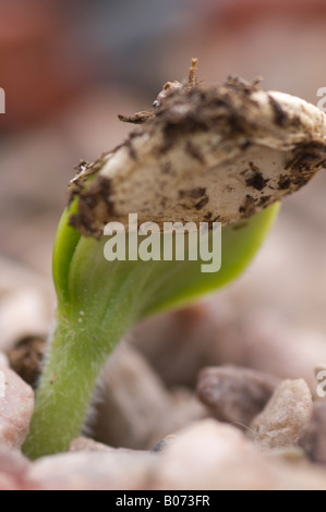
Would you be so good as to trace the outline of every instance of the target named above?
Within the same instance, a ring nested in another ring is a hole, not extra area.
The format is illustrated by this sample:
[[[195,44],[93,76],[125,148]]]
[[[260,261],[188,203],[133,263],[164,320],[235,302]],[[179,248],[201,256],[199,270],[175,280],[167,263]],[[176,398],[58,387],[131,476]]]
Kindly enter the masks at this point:
[[[153,449],[162,437],[205,414],[188,390],[169,392],[146,359],[125,344],[101,374],[95,409],[93,437],[136,450]]]

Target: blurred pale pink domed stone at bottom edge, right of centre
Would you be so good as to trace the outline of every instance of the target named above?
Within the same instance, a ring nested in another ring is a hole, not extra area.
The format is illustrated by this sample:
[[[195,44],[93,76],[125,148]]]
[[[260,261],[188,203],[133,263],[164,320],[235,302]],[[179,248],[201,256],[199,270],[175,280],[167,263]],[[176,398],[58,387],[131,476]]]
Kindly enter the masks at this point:
[[[244,471],[245,464],[253,471]],[[215,419],[196,422],[179,432],[155,470],[154,489],[230,489],[234,483],[242,488],[264,488],[268,483],[255,447],[239,429]]]

